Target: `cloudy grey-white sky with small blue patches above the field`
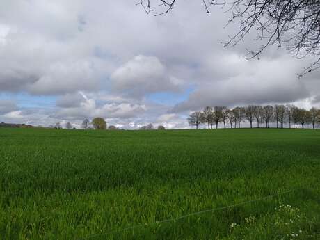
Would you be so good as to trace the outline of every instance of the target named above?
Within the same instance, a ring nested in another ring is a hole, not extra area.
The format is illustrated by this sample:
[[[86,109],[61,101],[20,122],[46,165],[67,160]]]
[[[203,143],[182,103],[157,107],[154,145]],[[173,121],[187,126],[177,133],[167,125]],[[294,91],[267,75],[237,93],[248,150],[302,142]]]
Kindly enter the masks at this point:
[[[254,31],[223,47],[230,13],[184,0],[155,17],[156,1],[150,14],[136,0],[0,1],[0,122],[184,129],[207,105],[320,107],[320,71],[296,77],[312,58],[273,46],[248,60]]]

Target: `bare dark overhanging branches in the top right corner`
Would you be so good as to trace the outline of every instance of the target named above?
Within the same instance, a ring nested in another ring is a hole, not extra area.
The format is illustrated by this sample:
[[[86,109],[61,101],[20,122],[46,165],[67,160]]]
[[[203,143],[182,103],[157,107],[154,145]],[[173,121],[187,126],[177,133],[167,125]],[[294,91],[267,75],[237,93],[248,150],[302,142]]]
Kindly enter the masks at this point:
[[[162,7],[156,15],[168,13],[178,0],[138,0],[147,13]],[[232,12],[228,24],[239,23],[225,47],[237,45],[251,31],[262,46],[248,50],[248,57],[259,57],[270,45],[285,47],[297,58],[314,56],[315,61],[298,74],[303,76],[320,68],[320,1],[319,0],[202,0],[207,13],[210,6],[222,6]]]

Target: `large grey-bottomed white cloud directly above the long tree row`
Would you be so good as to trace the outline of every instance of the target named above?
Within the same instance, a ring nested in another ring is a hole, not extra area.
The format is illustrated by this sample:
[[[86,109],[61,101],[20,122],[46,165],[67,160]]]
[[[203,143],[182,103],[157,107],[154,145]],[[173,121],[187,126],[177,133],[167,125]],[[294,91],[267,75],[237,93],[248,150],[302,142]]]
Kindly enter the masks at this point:
[[[208,105],[287,103],[309,95],[305,83],[296,78],[296,65],[288,58],[241,65],[241,71],[235,74],[202,83],[172,111],[197,110]]]

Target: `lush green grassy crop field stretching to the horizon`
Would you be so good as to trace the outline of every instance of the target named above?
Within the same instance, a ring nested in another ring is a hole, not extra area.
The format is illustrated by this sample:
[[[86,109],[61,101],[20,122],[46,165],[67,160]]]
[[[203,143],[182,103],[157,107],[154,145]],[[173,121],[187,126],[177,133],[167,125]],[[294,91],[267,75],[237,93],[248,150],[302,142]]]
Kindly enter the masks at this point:
[[[0,239],[319,240],[320,131],[0,129]]]

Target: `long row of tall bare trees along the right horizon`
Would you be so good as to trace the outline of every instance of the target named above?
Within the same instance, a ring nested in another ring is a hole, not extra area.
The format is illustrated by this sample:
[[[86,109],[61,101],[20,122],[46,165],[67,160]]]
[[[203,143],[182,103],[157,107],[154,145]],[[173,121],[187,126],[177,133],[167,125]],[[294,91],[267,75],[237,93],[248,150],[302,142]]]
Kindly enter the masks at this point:
[[[213,126],[218,129],[219,124],[226,128],[240,128],[241,122],[249,122],[250,128],[270,127],[270,123],[276,123],[277,128],[285,127],[287,123],[289,128],[305,128],[305,125],[311,124],[312,129],[317,128],[320,123],[320,110],[312,107],[310,110],[301,109],[293,104],[279,104],[275,106],[266,105],[248,105],[237,106],[229,109],[227,106],[206,106],[202,111],[195,111],[189,115],[189,125],[196,129],[202,124],[207,125],[208,129]]]

